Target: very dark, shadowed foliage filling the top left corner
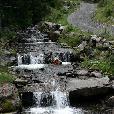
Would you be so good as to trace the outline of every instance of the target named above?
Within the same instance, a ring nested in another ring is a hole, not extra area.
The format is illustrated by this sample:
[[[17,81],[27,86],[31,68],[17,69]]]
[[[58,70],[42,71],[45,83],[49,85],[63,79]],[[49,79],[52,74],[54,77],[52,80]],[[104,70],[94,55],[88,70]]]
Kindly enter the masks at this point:
[[[17,26],[26,28],[37,24],[51,7],[61,6],[61,0],[1,0],[0,17],[2,27]]]

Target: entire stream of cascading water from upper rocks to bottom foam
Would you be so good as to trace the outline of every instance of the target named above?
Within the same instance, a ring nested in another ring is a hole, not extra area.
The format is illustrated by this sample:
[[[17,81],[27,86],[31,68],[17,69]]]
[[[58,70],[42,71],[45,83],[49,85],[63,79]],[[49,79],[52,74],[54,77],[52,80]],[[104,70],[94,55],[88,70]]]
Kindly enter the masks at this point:
[[[28,36],[28,32],[26,33]],[[32,28],[30,33],[32,33],[31,37],[27,37],[29,43],[25,42],[19,48],[17,54],[18,66],[15,68],[32,70],[32,74],[24,72],[21,76],[28,75],[29,77],[30,75],[31,80],[34,78],[37,81],[42,81],[46,87],[43,91],[35,90],[33,92],[35,104],[27,109],[24,107],[22,114],[114,114],[113,112],[96,113],[91,111],[89,113],[88,110],[85,111],[83,108],[71,107],[68,93],[65,90],[65,83],[61,84],[59,76],[57,76],[59,72],[64,73],[72,70],[73,66],[70,62],[71,49],[61,48],[53,42],[43,42],[45,35],[36,31],[35,28]],[[62,63],[59,65],[52,64],[55,58]],[[47,83],[49,90],[46,89],[48,88]],[[33,88],[35,87],[33,86]],[[39,86],[36,88],[39,88]]]

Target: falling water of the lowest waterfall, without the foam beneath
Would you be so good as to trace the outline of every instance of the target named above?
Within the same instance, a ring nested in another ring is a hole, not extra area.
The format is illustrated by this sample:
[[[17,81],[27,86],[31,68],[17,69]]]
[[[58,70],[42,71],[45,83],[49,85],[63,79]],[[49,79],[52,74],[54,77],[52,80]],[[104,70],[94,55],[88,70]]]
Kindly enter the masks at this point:
[[[35,101],[38,107],[49,105],[57,109],[68,106],[66,93],[60,91],[53,92],[34,92]],[[46,103],[46,104],[45,104]]]

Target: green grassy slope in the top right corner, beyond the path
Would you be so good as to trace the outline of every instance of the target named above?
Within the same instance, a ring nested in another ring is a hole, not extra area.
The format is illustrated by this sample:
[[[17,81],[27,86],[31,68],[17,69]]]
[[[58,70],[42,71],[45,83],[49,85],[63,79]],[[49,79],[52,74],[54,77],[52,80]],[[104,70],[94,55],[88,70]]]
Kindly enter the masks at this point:
[[[114,1],[100,0],[95,19],[102,23],[114,24]]]

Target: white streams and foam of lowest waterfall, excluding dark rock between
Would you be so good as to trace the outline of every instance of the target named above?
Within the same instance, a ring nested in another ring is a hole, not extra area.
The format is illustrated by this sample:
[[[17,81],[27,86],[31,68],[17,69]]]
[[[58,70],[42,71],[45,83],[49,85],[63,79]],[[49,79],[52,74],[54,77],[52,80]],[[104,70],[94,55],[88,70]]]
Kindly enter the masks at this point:
[[[35,92],[34,96],[36,97],[37,106],[27,110],[26,114],[84,114],[81,109],[70,108],[68,106],[66,93],[61,91],[54,91],[50,94],[54,97],[56,105],[53,104],[53,106],[41,107],[40,100],[42,92]]]

